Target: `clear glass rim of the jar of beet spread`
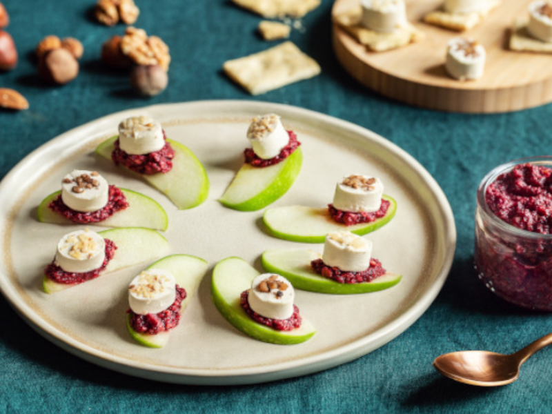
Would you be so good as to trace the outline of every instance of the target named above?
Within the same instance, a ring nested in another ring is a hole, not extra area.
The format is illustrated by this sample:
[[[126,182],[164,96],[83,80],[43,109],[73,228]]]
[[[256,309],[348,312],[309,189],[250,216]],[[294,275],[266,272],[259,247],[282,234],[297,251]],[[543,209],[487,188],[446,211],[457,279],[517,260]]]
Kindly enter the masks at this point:
[[[499,175],[504,174],[504,172],[509,172],[519,164],[547,166],[552,169],[552,155],[540,155],[536,157],[513,159],[512,161],[508,161],[504,164],[501,164],[500,166],[496,166],[495,168],[493,168],[485,175],[485,177],[483,177],[479,186],[477,187],[477,207],[480,208],[480,212],[485,216],[486,221],[492,222],[493,225],[497,226],[498,228],[500,228],[500,230],[506,233],[510,233],[511,235],[515,235],[517,237],[525,237],[535,240],[544,239],[552,241],[552,234],[546,235],[542,233],[535,233],[533,231],[523,230],[522,228],[517,228],[512,224],[506,223],[506,221],[497,217],[497,215],[493,213],[493,210],[491,210],[491,208],[487,204],[487,201],[485,199],[487,187],[489,187],[489,185],[492,184]]]

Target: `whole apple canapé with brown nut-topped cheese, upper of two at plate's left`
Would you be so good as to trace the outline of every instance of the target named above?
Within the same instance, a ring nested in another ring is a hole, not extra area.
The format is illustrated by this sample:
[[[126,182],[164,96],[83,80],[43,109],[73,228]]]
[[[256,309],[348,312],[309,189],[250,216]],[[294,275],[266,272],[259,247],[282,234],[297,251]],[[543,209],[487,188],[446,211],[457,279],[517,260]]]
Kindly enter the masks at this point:
[[[166,230],[167,213],[150,197],[108,185],[97,171],[73,170],[61,190],[48,195],[37,210],[39,221],[57,224],[98,224],[106,227],[141,226]]]

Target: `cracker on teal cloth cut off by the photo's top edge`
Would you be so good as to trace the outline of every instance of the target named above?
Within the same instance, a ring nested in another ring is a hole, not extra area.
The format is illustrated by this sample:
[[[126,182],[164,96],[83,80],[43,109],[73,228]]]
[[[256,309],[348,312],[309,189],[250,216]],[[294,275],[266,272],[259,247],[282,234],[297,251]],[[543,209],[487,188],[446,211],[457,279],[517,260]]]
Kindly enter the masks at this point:
[[[320,5],[320,0],[232,0],[238,6],[261,14],[268,19],[276,17],[303,17]]]

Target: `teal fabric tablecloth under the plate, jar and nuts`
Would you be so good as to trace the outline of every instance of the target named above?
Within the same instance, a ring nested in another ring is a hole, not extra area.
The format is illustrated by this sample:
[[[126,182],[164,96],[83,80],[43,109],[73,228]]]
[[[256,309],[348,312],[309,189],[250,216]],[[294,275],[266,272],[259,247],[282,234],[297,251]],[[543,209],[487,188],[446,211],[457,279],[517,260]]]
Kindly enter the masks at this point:
[[[435,177],[449,198],[458,230],[449,279],[431,308],[389,344],[322,373],[253,386],[176,386],[99,368],[35,333],[0,297],[0,412],[78,411],[549,411],[552,348],[502,388],[477,388],[441,377],[441,353],[489,349],[511,353],[552,331],[552,315],[530,313],[489,293],[473,270],[473,210],[480,179],[504,161],[550,153],[552,106],[501,115],[459,115],[411,108],[359,86],[331,47],[332,1],[304,18],[291,39],[322,66],[322,75],[250,97],[221,72],[227,59],[263,50],[260,18],[228,0],[137,0],[136,26],[157,34],[172,55],[170,86],[139,99],[126,76],[99,62],[101,43],[124,26],[90,18],[89,1],[5,0],[8,31],[19,50],[16,70],[0,87],[26,95],[30,109],[0,112],[0,177],[31,150],[111,112],[199,99],[259,99],[308,108],[371,129],[404,148]],[[60,88],[37,78],[33,50],[47,34],[77,37],[85,53],[79,77]]]

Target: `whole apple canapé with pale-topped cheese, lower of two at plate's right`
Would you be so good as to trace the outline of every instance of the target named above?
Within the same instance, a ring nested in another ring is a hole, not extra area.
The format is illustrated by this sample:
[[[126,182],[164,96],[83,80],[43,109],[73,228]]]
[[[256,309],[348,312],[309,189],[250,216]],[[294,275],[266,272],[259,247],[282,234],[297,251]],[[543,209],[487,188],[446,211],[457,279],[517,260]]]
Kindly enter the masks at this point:
[[[335,295],[384,290],[402,278],[372,257],[370,240],[348,231],[326,235],[322,257],[313,250],[273,249],[263,253],[262,264],[297,289]]]

